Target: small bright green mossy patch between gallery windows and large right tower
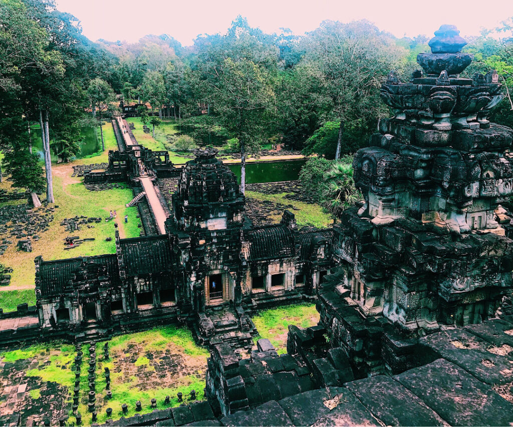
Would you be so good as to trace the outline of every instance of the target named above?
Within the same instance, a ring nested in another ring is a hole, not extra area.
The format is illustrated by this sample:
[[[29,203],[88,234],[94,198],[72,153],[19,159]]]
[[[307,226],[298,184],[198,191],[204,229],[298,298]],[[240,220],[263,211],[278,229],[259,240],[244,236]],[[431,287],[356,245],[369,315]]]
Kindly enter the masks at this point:
[[[319,323],[320,316],[315,304],[292,304],[290,306],[264,310],[252,318],[259,335],[254,343],[267,338],[278,354],[287,353],[287,334],[289,324],[307,328]]]

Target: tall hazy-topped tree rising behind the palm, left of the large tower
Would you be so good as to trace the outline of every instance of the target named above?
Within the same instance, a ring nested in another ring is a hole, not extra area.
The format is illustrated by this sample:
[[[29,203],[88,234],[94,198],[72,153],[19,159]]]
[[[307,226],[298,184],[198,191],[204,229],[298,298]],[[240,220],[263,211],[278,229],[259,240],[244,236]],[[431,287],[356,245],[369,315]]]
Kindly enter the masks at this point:
[[[303,40],[302,61],[321,71],[324,91],[331,99],[326,119],[339,121],[334,158],[342,152],[348,132],[369,134],[370,123],[388,113],[379,100],[381,83],[390,69],[401,65],[404,48],[367,21],[324,21]]]

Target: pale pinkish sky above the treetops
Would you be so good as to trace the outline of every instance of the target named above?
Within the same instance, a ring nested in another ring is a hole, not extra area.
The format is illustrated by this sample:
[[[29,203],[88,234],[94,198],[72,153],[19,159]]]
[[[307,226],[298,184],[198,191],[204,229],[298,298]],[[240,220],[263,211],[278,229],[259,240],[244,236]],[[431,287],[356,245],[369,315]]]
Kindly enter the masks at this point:
[[[402,37],[432,35],[441,24],[462,35],[478,35],[513,16],[513,0],[56,0],[59,10],[82,22],[92,40],[136,42],[147,34],[169,34],[184,46],[202,33],[224,33],[237,15],[264,32],[290,28],[304,34],[325,19],[368,19]]]

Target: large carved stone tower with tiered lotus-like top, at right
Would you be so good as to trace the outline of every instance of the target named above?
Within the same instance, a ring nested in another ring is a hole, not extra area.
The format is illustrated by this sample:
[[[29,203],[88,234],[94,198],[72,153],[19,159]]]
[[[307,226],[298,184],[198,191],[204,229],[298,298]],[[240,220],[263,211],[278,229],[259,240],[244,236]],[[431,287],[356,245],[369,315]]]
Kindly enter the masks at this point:
[[[502,98],[497,73],[461,76],[465,44],[444,25],[410,82],[390,72],[383,84],[394,116],[354,157],[365,202],[336,228],[342,267],[319,291],[325,324],[333,292],[405,331],[480,322],[511,294],[513,130],[486,118]]]

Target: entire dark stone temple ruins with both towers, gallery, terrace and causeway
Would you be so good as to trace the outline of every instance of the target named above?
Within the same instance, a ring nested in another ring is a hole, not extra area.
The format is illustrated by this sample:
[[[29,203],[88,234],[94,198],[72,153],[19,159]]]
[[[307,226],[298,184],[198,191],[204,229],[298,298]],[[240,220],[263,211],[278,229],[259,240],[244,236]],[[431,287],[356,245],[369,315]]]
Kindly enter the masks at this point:
[[[442,26],[410,82],[389,74],[394,116],[354,156],[364,204],[331,229],[298,230],[289,211],[255,226],[216,150],[176,169],[113,120],[120,150],[84,180],[130,182],[145,235],[116,231],[115,254],[38,256],[38,324],[0,339],[187,323],[210,348],[207,401],[109,425],[511,424],[513,130],[486,118],[497,73],[460,77],[464,45]],[[251,314],[304,299],[317,326],[289,326],[287,354],[252,350]]]

